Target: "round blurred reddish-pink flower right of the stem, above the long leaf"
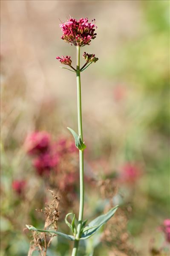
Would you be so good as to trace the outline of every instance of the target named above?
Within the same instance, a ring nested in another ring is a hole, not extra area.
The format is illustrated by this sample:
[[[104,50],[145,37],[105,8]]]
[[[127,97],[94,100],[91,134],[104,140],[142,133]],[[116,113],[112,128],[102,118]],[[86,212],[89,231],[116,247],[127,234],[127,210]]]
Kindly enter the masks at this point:
[[[141,170],[138,165],[132,162],[127,162],[121,167],[120,180],[122,182],[135,182],[141,175]]]

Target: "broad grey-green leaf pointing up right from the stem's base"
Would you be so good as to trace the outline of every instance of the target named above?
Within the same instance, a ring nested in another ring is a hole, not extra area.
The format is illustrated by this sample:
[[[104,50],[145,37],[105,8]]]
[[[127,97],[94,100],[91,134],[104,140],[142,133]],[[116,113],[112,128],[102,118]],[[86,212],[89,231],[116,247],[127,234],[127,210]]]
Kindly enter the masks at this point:
[[[116,210],[118,209],[118,206],[115,206],[114,208],[110,209],[109,212],[106,214],[103,214],[101,216],[98,216],[93,221],[91,221],[85,228],[84,232],[81,235],[82,239],[87,239],[90,236],[94,235],[95,232],[97,232],[107,221],[109,221],[110,218],[115,214]],[[85,231],[86,229],[86,231]]]

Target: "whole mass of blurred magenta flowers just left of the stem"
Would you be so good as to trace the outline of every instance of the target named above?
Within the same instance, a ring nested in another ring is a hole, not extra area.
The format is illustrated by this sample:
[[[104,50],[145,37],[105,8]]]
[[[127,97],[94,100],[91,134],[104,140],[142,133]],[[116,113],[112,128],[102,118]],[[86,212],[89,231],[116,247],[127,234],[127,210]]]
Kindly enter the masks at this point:
[[[67,144],[66,139],[52,143],[51,136],[47,132],[32,132],[25,141],[26,152],[33,156],[33,166],[40,176],[49,175],[52,169],[56,169],[61,156],[65,152],[73,152],[76,147]]]

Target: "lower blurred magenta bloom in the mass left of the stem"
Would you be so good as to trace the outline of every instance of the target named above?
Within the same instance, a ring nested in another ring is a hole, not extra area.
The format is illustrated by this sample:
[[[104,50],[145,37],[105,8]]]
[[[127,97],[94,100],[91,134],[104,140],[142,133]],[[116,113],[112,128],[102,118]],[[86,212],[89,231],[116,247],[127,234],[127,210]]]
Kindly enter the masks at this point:
[[[43,174],[49,174],[52,168],[57,166],[58,162],[59,157],[57,154],[44,153],[33,160],[33,165],[37,174],[42,176]]]

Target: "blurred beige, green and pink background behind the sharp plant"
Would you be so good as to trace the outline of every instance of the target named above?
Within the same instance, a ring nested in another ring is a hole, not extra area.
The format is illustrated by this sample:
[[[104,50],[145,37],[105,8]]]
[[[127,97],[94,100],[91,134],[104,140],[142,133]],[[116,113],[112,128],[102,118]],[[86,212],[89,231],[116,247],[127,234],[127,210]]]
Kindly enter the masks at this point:
[[[99,59],[81,75],[84,218],[120,205],[104,232],[82,247],[94,256],[168,256],[166,0],[1,1],[0,255],[27,255],[32,238],[25,224],[43,227],[44,218],[35,209],[51,199],[47,188],[61,195],[58,230],[69,232],[67,212],[78,215],[78,152],[66,129],[78,130],[76,79],[55,59],[69,55],[76,65],[76,48],[60,39],[59,24],[69,15],[95,18],[98,27],[95,40],[81,48],[81,54],[95,53]],[[37,156],[30,156],[37,138],[32,132],[58,150],[55,164],[45,168],[48,175],[35,163]],[[25,142],[28,136],[31,146]],[[55,237],[46,255],[68,256],[71,249],[71,242]]]

